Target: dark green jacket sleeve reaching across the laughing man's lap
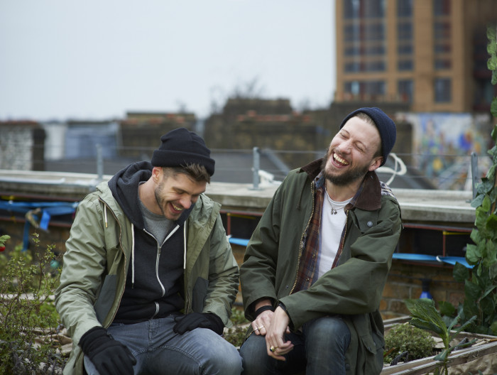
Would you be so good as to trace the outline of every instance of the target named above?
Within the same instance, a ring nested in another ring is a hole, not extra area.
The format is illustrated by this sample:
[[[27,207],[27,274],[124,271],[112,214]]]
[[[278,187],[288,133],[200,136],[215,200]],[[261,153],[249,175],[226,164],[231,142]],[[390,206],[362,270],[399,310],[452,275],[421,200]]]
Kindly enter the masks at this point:
[[[293,328],[323,315],[356,315],[378,309],[402,227],[398,204],[388,202],[378,214],[378,224],[366,232],[360,233],[354,223],[347,226],[353,232],[349,235],[356,237],[347,250],[349,259],[325,273],[311,288],[280,299]]]

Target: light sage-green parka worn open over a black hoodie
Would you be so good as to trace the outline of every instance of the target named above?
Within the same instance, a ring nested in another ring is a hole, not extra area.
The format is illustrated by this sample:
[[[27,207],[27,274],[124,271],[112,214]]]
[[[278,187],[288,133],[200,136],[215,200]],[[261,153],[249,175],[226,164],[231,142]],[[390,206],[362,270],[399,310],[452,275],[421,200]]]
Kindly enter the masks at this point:
[[[239,269],[219,216],[220,205],[200,195],[185,222],[184,312],[214,312],[231,324]],[[132,244],[131,222],[107,183],[80,202],[66,243],[55,303],[73,340],[64,374],[83,373],[80,337],[92,327],[109,327],[126,284]]]

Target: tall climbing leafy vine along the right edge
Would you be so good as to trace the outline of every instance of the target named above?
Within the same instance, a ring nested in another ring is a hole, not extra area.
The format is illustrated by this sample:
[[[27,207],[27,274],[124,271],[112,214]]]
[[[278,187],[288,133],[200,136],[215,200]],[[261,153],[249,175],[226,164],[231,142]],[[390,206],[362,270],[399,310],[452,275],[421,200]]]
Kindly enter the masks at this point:
[[[492,85],[497,84],[497,38],[496,25],[487,28],[490,55],[488,69],[492,72]],[[497,97],[493,98],[491,114],[497,117]],[[497,143],[497,124],[491,133]],[[476,208],[474,229],[471,240],[474,244],[466,246],[466,261],[473,265],[470,272],[457,263],[454,266],[454,278],[464,283],[464,303],[459,308],[463,322],[476,315],[476,320],[468,326],[469,332],[497,335],[497,146],[488,154],[492,165],[486,177],[476,186],[476,197],[471,206]]]

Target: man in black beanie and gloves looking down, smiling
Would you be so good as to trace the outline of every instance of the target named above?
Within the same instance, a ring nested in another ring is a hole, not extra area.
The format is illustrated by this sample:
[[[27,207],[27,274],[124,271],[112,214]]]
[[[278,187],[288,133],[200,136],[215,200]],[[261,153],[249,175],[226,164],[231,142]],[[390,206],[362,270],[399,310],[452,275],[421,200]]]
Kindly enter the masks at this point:
[[[80,202],[55,303],[73,340],[64,374],[240,374],[222,338],[239,269],[204,191],[214,160],[187,129],[160,138]]]

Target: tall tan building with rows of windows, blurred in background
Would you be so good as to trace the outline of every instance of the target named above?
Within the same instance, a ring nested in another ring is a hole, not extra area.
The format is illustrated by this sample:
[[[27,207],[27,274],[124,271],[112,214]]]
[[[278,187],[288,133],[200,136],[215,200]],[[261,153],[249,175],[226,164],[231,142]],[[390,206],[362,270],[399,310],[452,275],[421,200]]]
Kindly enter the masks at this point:
[[[407,102],[412,112],[488,112],[495,0],[337,0],[335,102]]]

